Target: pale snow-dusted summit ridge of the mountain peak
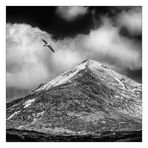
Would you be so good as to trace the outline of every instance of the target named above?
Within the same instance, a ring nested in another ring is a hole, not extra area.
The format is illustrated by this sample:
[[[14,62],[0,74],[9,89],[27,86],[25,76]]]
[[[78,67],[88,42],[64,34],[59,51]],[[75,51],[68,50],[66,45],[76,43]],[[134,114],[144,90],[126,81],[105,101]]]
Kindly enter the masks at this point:
[[[35,91],[48,90],[51,87],[55,87],[55,86],[70,82],[72,80],[72,78],[79,71],[86,69],[86,68],[90,69],[95,76],[99,76],[99,78],[102,79],[102,81],[104,81],[104,82],[106,81],[104,79],[104,74],[110,75],[110,77],[112,77],[111,80],[117,81],[122,86],[122,88],[125,88],[124,84],[120,81],[120,79],[122,79],[122,77],[123,77],[121,74],[113,71],[112,69],[110,69],[108,66],[106,66],[104,64],[101,64],[101,63],[94,61],[94,60],[87,59],[87,60],[84,60],[82,63],[80,63],[75,68],[64,72],[63,74],[59,75],[58,77],[47,82],[45,85],[39,87]]]

